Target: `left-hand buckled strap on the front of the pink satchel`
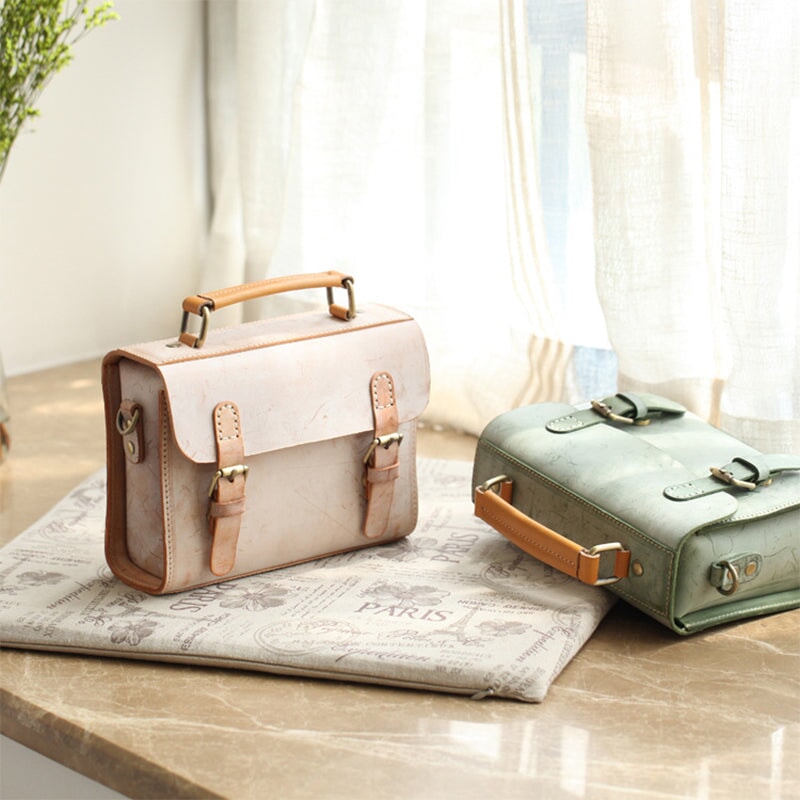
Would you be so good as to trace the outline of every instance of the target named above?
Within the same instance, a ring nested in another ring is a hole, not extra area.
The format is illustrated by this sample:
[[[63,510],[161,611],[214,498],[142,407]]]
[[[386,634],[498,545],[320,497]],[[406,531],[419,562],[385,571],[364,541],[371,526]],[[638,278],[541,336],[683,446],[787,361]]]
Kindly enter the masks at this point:
[[[245,478],[244,439],[239,409],[235,403],[218,403],[214,408],[214,437],[217,466],[209,492],[208,519],[211,526],[211,559],[214,575],[227,575],[236,561]]]

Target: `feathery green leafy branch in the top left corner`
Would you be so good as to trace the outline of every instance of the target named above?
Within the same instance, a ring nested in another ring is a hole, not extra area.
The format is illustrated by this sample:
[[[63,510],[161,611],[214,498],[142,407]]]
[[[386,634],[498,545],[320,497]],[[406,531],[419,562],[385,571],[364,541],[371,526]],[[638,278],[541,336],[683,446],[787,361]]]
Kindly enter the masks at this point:
[[[72,47],[118,15],[112,2],[0,0],[0,178],[11,146],[50,79],[72,61]]]

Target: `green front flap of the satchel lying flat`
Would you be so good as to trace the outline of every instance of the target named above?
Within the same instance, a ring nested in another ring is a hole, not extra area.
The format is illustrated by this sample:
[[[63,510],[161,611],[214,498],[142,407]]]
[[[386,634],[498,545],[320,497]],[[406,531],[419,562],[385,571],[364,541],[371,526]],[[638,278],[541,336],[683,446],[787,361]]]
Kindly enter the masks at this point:
[[[754,491],[725,487],[676,502],[666,496],[667,487],[691,482],[708,475],[711,466],[757,452],[688,412],[656,417],[641,427],[604,423],[569,434],[547,430],[551,419],[573,410],[565,404],[542,403],[502,414],[484,430],[479,453],[495,451],[523,468],[528,465],[671,548],[692,531],[715,523],[800,506],[800,472],[784,472],[771,485]],[[485,456],[476,460],[478,483],[492,477],[482,474],[481,458]]]

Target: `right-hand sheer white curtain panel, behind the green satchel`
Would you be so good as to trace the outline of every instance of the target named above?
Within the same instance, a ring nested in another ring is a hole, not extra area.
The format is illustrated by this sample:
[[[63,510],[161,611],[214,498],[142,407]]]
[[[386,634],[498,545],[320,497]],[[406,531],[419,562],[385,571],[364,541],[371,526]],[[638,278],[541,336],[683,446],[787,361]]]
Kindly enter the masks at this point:
[[[590,0],[587,33],[620,386],[800,452],[800,6]]]

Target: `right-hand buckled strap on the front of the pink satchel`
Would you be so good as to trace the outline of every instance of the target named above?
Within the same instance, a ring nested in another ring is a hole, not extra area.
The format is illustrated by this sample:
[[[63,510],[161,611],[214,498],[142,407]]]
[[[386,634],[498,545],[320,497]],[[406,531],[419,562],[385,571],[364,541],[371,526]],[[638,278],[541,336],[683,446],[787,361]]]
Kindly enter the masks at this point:
[[[364,535],[369,539],[376,539],[386,533],[394,484],[399,474],[399,415],[394,378],[388,372],[376,372],[372,376],[370,398],[375,438],[365,462],[367,509],[364,515]]]

